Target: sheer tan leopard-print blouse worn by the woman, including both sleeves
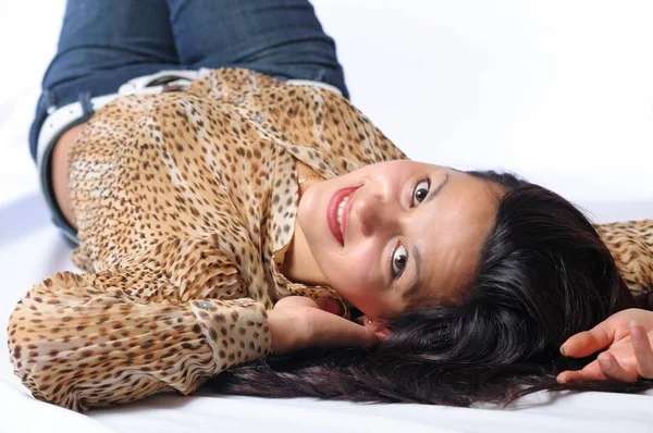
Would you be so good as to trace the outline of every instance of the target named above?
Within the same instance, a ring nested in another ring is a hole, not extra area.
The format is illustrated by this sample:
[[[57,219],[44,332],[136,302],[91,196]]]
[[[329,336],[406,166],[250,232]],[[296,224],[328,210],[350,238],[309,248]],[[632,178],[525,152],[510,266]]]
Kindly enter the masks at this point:
[[[74,263],[36,284],[9,323],[15,373],[39,399],[84,411],[270,354],[266,310],[338,299],[279,271],[297,212],[297,161],[324,178],[402,159],[333,91],[217,70],[185,91],[99,110],[70,157]],[[636,289],[653,286],[653,222],[605,225]]]

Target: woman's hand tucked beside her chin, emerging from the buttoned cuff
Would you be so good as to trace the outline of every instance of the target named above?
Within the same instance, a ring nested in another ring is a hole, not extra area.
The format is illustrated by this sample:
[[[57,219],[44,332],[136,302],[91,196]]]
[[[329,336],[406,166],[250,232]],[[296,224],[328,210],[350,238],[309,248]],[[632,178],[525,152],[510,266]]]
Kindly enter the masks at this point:
[[[329,312],[337,301],[319,301],[320,305],[303,296],[288,296],[268,311],[274,355],[309,347],[373,347],[379,343],[371,329]]]

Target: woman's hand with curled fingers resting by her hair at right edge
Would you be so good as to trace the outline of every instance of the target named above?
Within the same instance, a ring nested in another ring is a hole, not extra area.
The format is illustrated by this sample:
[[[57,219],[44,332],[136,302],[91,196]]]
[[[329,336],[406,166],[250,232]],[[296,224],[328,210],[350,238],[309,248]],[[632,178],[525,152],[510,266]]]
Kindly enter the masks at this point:
[[[604,350],[582,370],[564,371],[559,383],[591,380],[634,382],[653,379],[653,311],[631,308],[619,311],[590,331],[571,336],[563,344],[563,355],[572,358]]]

